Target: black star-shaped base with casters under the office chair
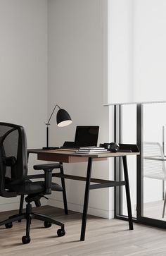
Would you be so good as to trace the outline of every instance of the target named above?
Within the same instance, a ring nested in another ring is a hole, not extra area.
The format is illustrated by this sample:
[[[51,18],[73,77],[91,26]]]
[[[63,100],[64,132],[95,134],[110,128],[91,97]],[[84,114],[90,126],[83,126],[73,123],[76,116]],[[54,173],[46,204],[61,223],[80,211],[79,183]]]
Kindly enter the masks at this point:
[[[8,219],[1,221],[0,226],[5,225],[6,228],[12,228],[12,223],[14,221],[21,221],[22,219],[26,219],[26,236],[23,236],[22,242],[23,243],[30,243],[30,224],[32,219],[38,219],[39,221],[44,221],[45,228],[49,228],[51,224],[55,224],[60,226],[61,228],[58,229],[57,234],[58,236],[65,236],[65,228],[64,224],[51,219],[48,215],[45,214],[35,214],[32,212],[32,205],[27,203],[26,212],[23,214],[15,214]]]

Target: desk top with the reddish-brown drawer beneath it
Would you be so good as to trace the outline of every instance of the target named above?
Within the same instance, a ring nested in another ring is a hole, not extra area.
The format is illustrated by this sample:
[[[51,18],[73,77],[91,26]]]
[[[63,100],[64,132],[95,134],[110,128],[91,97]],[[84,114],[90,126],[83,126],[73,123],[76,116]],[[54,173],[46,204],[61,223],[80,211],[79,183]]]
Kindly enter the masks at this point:
[[[102,152],[102,153],[76,153],[64,150],[41,150],[41,149],[30,149],[27,150],[28,153],[37,154],[39,160],[45,161],[63,161],[63,162],[77,162],[77,161],[87,161],[89,157],[99,160],[107,159],[108,157],[125,157],[131,155],[138,155],[139,152]]]

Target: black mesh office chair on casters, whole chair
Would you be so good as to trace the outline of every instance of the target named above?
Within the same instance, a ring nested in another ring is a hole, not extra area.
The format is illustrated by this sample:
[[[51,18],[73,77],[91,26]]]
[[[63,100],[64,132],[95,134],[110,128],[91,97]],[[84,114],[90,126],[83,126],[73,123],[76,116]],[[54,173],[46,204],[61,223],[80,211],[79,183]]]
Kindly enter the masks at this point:
[[[32,182],[27,179],[27,141],[25,130],[22,126],[11,123],[0,123],[0,195],[1,197],[25,197],[26,212],[15,214],[8,219],[1,221],[0,226],[12,228],[14,221],[26,219],[26,235],[23,236],[23,243],[30,243],[30,224],[32,219],[44,221],[45,228],[56,224],[58,236],[65,235],[64,224],[51,219],[44,214],[32,212],[32,202],[40,206],[40,198],[51,194],[51,190],[62,191],[63,188],[51,182],[53,166],[39,164],[34,166],[36,170],[44,171],[44,181]]]

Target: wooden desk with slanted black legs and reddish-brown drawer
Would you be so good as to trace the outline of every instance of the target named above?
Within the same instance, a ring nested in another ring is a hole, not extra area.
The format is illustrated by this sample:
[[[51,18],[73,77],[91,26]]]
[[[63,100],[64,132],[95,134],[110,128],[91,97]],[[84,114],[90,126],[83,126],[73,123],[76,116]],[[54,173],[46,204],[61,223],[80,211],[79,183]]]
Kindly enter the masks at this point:
[[[137,155],[139,152],[104,152],[98,154],[76,154],[75,152],[70,151],[63,151],[63,150],[28,150],[28,153],[37,154],[37,159],[44,160],[44,161],[59,161],[65,163],[75,163],[81,161],[87,161],[87,176],[72,176],[66,175],[64,173],[53,173],[53,176],[59,178],[69,178],[72,180],[77,181],[85,181],[85,191],[84,191],[84,208],[82,213],[82,229],[81,229],[81,236],[80,240],[84,240],[85,238],[85,231],[86,231],[86,224],[87,224],[87,210],[88,210],[88,203],[89,203],[89,190],[91,189],[98,189],[98,188],[109,188],[109,187],[116,187],[120,185],[125,185],[126,188],[126,197],[127,197],[127,210],[128,210],[128,217],[129,217],[129,229],[133,229],[133,221],[132,221],[132,207],[131,207],[131,200],[130,200],[130,192],[129,192],[129,177],[128,177],[128,169],[127,169],[127,156]],[[125,181],[109,181],[109,180],[102,180],[98,178],[91,178],[91,167],[92,162],[95,160],[103,160],[107,159],[108,157],[122,157],[123,160],[123,167],[124,167],[124,176]],[[41,175],[42,176],[42,175]],[[32,176],[29,176],[33,178]],[[91,184],[95,183],[95,184]]]

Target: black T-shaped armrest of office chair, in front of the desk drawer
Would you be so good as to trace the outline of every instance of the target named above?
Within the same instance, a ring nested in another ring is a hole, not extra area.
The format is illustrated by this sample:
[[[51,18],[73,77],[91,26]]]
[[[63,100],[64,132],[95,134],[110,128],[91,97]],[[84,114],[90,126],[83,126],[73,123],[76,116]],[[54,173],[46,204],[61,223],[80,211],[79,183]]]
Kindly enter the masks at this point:
[[[51,194],[52,171],[53,169],[60,168],[61,164],[37,164],[34,165],[34,170],[44,171],[44,181],[46,188],[46,195]]]

